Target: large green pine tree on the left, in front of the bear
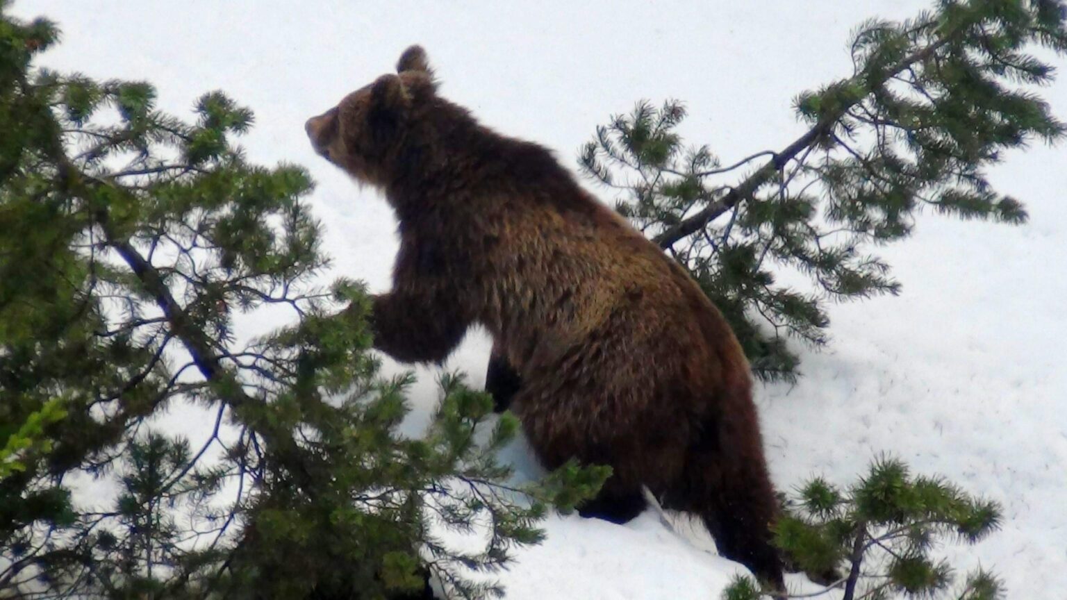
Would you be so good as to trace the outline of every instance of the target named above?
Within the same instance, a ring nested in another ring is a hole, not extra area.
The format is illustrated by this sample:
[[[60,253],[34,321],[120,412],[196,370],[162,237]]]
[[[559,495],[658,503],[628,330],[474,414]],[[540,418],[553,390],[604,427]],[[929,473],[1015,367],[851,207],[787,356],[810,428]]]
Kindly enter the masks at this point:
[[[146,82],[34,68],[57,28],[6,6],[0,596],[415,598],[431,574],[499,595],[471,574],[607,470],[509,487],[517,423],[453,376],[427,435],[399,436],[412,379],[378,375],[361,285],[321,284],[307,173],[235,144],[252,112],[211,92],[187,122]],[[288,325],[239,344],[235,315],[265,307]],[[176,405],[210,411],[206,443],[157,427]],[[116,493],[76,500],[91,478]]]

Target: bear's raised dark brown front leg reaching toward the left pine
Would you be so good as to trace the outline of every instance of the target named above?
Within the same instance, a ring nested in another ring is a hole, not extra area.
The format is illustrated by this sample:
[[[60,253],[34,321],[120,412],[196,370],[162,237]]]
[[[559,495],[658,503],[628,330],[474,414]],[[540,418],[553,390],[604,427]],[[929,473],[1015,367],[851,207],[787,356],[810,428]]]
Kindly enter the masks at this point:
[[[371,298],[375,348],[403,363],[443,362],[471,323],[440,295],[393,291]]]

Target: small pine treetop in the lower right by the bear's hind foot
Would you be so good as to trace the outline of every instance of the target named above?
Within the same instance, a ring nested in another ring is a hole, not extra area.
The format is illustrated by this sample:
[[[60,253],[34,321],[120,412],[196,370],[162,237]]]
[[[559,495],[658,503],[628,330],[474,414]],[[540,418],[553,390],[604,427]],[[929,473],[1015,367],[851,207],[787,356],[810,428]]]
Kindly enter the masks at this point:
[[[775,543],[827,591],[842,590],[843,600],[1004,596],[992,573],[980,568],[957,584],[951,565],[930,556],[939,541],[973,544],[994,532],[1000,506],[942,477],[912,476],[899,459],[876,459],[847,490],[814,478],[787,499],[784,512]],[[723,598],[754,600],[759,585],[737,578]]]

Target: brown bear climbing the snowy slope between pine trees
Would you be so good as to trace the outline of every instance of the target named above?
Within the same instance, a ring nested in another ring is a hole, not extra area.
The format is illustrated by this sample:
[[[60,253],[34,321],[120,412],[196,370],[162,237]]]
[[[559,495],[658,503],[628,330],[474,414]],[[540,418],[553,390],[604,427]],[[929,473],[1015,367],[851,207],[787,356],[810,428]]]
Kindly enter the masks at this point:
[[[783,589],[749,365],[722,315],[547,149],[439,96],[421,48],[397,72],[306,125],[399,221],[393,290],[372,298],[375,346],[443,361],[482,325],[519,376],[512,410],[544,465],[612,468],[583,515],[624,522],[646,487]]]

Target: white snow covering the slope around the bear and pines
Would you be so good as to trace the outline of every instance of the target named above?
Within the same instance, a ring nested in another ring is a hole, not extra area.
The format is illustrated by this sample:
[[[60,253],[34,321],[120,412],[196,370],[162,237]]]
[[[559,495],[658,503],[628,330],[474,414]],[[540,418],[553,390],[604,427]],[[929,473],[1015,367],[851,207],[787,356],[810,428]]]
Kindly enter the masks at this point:
[[[383,290],[396,250],[393,216],[373,192],[313,155],[303,122],[389,70],[407,45],[428,49],[443,94],[491,126],[555,148],[568,165],[595,125],[642,97],[685,99],[691,116],[683,133],[732,161],[801,132],[791,99],[849,73],[846,43],[857,23],[910,17],[927,3],[132,6],[22,0],[14,11],[60,21],[64,43],[45,57],[48,66],[148,79],[161,107],[179,114],[211,89],[255,109],[250,157],[307,165],[319,181],[315,209],[335,272]],[[1067,117],[1067,82],[1044,93]],[[1037,146],[992,171],[999,190],[1025,202],[1028,225],[925,215],[913,238],[881,251],[903,294],[831,306],[830,348],[805,351],[796,385],[758,390],[768,460],[782,489],[814,474],[847,483],[889,452],[917,472],[944,474],[1000,501],[1003,531],[976,547],[943,551],[960,570],[993,568],[1010,597],[1067,597],[1065,165],[1063,148]],[[243,332],[270,325],[248,322]],[[487,354],[484,334],[474,332],[447,368],[480,383]],[[435,372],[418,374],[412,432],[437,398]],[[210,419],[203,415],[205,429]],[[514,454],[521,471],[536,472],[521,447]],[[551,517],[544,526],[547,540],[499,574],[508,598],[711,598],[742,569],[675,533],[654,510],[624,526],[576,516]]]

